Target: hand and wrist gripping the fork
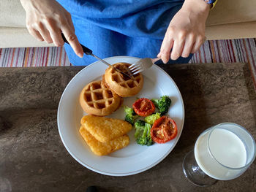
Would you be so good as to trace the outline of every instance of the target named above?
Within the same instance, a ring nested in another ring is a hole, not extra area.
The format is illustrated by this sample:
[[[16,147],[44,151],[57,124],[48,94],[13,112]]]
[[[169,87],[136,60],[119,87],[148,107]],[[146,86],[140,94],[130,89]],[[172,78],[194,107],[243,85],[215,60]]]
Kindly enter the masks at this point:
[[[187,58],[205,41],[206,19],[210,5],[203,0],[186,0],[170,21],[158,58],[166,64],[170,58]]]

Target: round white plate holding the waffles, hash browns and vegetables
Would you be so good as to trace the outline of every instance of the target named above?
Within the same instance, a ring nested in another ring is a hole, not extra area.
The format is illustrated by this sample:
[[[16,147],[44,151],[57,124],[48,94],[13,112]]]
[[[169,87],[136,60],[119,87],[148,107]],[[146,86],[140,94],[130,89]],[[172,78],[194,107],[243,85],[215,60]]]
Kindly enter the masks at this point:
[[[132,64],[138,61],[138,58],[121,56],[105,58],[105,61],[110,64],[118,62]],[[124,105],[132,107],[136,97],[154,99],[164,95],[170,96],[172,104],[168,115],[176,121],[177,137],[165,144],[154,144],[150,147],[140,146],[135,142],[135,131],[132,130],[128,134],[130,142],[127,147],[110,155],[97,156],[91,152],[78,131],[80,119],[83,115],[86,115],[80,107],[78,98],[80,91],[86,84],[101,79],[105,69],[107,69],[107,66],[97,61],[76,74],[65,88],[58,110],[58,127],[61,140],[76,161],[94,172],[112,176],[125,176],[146,171],[162,161],[173,150],[181,136],[184,125],[184,104],[181,93],[173,79],[159,66],[154,65],[143,72],[143,89],[138,95],[125,98]],[[120,107],[109,117],[124,119],[123,107]]]

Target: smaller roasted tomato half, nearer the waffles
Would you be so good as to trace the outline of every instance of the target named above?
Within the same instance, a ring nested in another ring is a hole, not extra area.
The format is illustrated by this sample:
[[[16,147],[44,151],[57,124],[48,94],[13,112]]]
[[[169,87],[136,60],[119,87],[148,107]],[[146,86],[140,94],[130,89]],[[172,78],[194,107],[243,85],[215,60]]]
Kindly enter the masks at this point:
[[[156,107],[154,107],[154,103],[146,98],[136,100],[135,103],[132,104],[132,108],[138,115],[143,117],[151,115],[156,109]]]

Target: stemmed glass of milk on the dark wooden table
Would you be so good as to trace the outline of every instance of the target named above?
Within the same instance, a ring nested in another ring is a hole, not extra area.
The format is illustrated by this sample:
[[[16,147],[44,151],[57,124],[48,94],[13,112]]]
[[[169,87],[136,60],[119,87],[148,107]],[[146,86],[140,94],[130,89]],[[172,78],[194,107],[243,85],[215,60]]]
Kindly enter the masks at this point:
[[[255,160],[255,139],[236,123],[221,123],[203,131],[184,158],[185,176],[199,186],[232,180]]]

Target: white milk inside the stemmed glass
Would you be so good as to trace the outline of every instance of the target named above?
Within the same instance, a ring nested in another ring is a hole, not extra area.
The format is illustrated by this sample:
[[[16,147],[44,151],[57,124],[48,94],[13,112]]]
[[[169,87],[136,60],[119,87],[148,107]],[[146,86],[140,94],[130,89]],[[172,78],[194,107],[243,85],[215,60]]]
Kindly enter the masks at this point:
[[[224,128],[215,128],[211,132],[209,147],[214,158],[219,161],[219,164],[211,156],[207,147],[210,131],[208,130],[201,134],[195,143],[195,159],[200,169],[208,174],[208,176],[217,180],[232,180],[238,177],[244,170],[230,168],[240,168],[246,164],[244,143],[233,132]]]

